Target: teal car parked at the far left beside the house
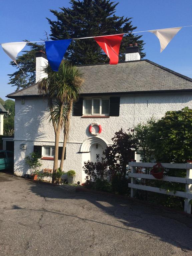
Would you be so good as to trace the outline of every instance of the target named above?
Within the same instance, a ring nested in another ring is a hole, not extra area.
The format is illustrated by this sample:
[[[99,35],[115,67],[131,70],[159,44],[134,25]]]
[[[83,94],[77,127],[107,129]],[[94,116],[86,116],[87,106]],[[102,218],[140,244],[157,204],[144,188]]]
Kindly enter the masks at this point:
[[[13,168],[14,153],[9,150],[0,150],[0,170]]]

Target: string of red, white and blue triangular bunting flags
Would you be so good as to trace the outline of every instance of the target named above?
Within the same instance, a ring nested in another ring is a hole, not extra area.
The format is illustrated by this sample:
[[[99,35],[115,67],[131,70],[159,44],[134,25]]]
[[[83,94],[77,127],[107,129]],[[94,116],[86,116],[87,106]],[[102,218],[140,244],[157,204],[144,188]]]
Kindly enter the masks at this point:
[[[1,43],[1,46],[4,52],[19,67],[19,65],[16,62],[16,58],[18,53],[25,47],[25,45],[28,43],[44,42],[48,62],[51,68],[53,69],[53,71],[58,71],[59,65],[63,59],[63,56],[67,51],[72,40],[93,38],[97,42],[97,44],[102,48],[102,50],[106,53],[106,55],[109,57],[110,59],[109,63],[112,65],[116,65],[119,61],[119,49],[120,49],[121,40],[124,35],[143,33],[143,32],[153,33],[159,39],[160,46],[161,46],[160,52],[162,52],[170,43],[170,41],[173,39],[173,37],[181,30],[181,28],[184,28],[184,27],[192,27],[192,25],[183,26],[183,27],[174,27],[174,28],[163,28],[163,29],[155,29],[155,30],[128,32],[128,33],[106,35],[106,36],[90,36],[90,37],[80,37],[80,38],[71,38],[71,39],[63,39],[63,40],[53,40],[53,41]]]

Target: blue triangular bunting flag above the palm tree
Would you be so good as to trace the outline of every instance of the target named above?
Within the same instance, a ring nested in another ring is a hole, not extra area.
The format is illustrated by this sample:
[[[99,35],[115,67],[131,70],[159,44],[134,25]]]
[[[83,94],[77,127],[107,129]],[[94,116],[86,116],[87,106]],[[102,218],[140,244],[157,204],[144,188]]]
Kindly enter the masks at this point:
[[[45,41],[47,59],[53,71],[58,71],[59,65],[70,43],[71,39]]]

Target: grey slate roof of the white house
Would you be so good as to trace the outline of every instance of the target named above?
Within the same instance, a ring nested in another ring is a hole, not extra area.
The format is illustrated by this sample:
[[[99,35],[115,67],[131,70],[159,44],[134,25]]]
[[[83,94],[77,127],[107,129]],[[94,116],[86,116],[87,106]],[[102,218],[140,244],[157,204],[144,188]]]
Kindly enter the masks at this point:
[[[149,60],[78,67],[84,73],[81,94],[192,91],[192,79]],[[38,84],[8,94],[8,98],[40,96]]]

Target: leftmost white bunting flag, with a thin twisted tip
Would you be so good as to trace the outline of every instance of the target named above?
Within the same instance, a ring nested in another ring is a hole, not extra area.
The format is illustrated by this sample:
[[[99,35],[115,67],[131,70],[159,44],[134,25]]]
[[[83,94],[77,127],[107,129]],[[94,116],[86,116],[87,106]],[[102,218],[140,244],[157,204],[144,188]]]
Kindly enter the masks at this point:
[[[15,62],[15,64],[18,67],[19,67],[19,65],[16,62],[17,54],[25,47],[26,43],[27,42],[14,42],[14,43],[1,44],[4,52]],[[23,72],[23,74],[24,74],[24,72]]]

